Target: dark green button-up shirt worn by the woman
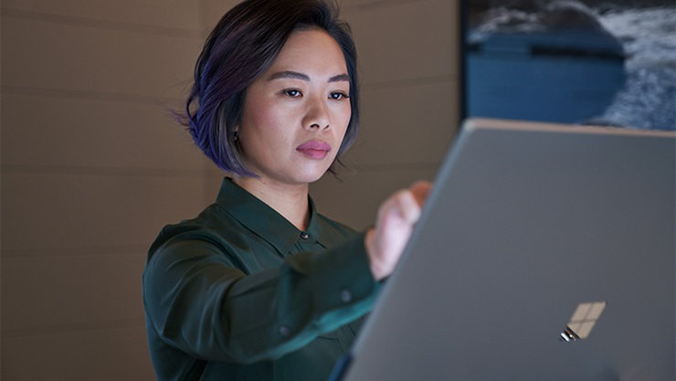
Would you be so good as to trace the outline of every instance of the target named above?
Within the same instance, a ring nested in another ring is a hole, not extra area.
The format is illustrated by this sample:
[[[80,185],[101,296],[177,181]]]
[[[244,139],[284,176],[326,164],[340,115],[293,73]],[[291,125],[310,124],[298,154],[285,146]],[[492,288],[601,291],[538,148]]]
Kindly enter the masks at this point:
[[[325,380],[378,284],[364,234],[315,211],[307,231],[229,179],[168,225],[143,272],[159,380]]]

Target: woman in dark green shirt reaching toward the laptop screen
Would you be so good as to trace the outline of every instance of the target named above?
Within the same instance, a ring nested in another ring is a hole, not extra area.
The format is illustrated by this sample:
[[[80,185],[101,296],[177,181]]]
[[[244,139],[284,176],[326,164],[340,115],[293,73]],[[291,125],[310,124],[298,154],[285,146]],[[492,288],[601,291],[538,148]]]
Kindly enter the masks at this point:
[[[225,178],[198,217],[164,227],[143,273],[160,380],[324,380],[396,265],[429,190],[417,183],[356,233],[308,185],[358,128],[354,44],[322,0],[248,0],[206,40],[187,101]]]

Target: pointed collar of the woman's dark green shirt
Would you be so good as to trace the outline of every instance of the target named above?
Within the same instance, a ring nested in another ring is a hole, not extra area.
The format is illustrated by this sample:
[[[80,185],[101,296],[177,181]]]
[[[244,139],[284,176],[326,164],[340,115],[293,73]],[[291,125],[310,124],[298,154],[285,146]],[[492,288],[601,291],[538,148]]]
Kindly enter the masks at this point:
[[[286,255],[299,240],[319,242],[322,246],[322,221],[316,212],[312,197],[309,197],[310,224],[306,231],[294,227],[288,219],[281,216],[275,209],[251,195],[247,190],[233,183],[225,177],[218,191],[216,203],[223,206],[226,212],[237,219],[242,225]],[[301,238],[306,233],[309,238]]]

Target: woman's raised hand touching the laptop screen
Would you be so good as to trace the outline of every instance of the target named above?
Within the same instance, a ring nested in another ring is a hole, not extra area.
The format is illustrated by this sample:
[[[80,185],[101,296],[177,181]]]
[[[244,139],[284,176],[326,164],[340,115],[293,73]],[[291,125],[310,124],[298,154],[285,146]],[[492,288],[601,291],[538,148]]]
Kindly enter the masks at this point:
[[[381,204],[375,228],[366,233],[364,242],[375,280],[395,270],[431,188],[430,183],[418,181]]]

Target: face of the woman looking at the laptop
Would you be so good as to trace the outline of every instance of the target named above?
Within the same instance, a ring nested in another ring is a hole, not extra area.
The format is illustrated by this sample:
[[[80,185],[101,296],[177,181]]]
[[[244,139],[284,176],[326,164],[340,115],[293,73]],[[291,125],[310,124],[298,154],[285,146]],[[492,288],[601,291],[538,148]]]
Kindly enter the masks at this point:
[[[350,122],[343,51],[320,29],[293,32],[272,66],[247,89],[239,143],[261,180],[301,185],[333,163]]]

